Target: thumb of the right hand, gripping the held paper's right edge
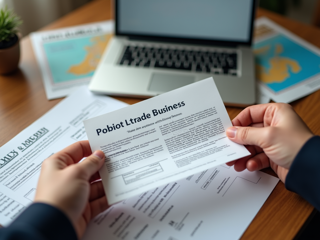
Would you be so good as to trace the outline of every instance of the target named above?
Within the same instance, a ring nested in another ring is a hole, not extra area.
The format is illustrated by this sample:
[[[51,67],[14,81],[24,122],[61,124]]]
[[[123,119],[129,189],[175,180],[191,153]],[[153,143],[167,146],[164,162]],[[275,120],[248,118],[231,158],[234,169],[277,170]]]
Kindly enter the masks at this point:
[[[265,135],[267,127],[229,127],[227,137],[239,144],[255,145],[263,148],[261,139]]]

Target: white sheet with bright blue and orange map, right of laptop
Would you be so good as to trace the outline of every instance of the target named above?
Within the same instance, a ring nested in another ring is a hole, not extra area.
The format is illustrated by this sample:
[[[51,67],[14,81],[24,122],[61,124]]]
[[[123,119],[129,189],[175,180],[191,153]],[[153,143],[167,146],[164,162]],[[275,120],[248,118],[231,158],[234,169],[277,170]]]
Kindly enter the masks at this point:
[[[257,103],[289,103],[320,89],[320,49],[268,18],[255,21]]]

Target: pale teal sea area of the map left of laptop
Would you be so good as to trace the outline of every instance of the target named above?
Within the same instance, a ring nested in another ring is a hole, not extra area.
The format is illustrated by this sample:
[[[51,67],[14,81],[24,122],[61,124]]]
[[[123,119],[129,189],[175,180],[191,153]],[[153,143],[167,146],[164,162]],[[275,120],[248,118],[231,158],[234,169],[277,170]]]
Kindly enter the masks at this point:
[[[62,83],[79,78],[91,77],[94,71],[83,75],[75,75],[68,70],[80,64],[87,55],[85,46],[92,46],[92,36],[62,40],[44,44],[44,51],[54,83]]]

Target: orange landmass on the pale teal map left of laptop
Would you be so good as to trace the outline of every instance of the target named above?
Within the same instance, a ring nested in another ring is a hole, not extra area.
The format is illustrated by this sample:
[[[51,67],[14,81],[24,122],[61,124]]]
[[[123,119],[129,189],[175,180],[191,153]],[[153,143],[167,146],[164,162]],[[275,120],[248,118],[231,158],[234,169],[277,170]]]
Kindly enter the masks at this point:
[[[85,51],[87,51],[87,55],[84,60],[77,65],[72,65],[68,69],[68,73],[84,75],[94,71],[98,66],[101,55],[106,48],[110,37],[111,35],[92,37],[90,41],[93,42],[93,45],[84,47]]]

